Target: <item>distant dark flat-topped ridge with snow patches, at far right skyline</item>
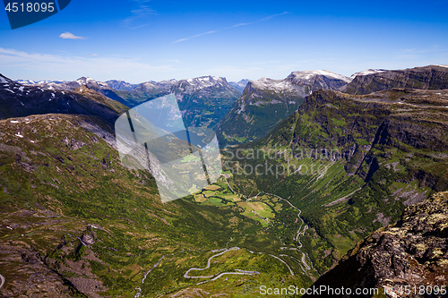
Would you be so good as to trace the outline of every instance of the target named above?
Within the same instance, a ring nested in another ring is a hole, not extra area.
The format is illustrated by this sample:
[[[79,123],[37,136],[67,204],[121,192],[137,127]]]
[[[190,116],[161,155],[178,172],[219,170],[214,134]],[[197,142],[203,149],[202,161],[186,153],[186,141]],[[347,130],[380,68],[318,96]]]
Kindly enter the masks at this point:
[[[369,94],[392,88],[448,89],[448,66],[429,65],[397,71],[361,72],[340,90],[349,94]]]

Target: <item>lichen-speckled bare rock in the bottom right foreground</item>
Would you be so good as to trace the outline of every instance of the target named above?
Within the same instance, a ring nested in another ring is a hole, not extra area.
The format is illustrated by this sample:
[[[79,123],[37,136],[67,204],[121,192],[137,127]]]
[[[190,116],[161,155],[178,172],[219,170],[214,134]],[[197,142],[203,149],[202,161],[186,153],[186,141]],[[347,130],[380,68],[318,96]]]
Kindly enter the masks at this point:
[[[419,289],[446,285],[447,236],[448,192],[438,192],[406,209],[397,224],[380,229],[359,243],[336,267],[320,277],[314,287],[344,286],[353,293],[356,288],[379,288],[379,293],[388,297],[442,297],[443,294],[434,291],[419,293]],[[401,293],[400,289],[406,286],[412,293]],[[414,288],[418,289],[417,294]]]

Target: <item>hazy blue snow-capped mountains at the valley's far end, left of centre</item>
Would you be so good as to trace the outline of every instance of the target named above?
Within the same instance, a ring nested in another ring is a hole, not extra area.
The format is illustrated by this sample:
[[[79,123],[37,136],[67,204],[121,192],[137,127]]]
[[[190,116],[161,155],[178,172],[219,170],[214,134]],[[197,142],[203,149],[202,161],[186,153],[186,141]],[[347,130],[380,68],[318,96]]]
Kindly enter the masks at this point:
[[[175,93],[184,122],[192,127],[213,127],[240,95],[225,78],[204,76],[188,80],[146,81],[130,84],[125,81],[95,81],[82,77],[76,81],[19,81],[42,89],[74,90],[87,86],[100,94],[134,107],[145,101]],[[31,83],[31,84],[30,84]],[[240,82],[240,84],[243,84]],[[239,85],[238,85],[239,86]]]

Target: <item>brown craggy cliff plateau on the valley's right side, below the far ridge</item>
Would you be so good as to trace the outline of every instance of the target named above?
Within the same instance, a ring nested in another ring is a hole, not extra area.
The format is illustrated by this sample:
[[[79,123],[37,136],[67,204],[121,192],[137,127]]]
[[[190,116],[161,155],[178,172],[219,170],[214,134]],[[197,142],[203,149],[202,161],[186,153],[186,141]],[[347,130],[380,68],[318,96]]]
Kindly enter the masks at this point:
[[[447,105],[446,90],[391,89],[366,96],[320,90],[267,141],[288,143],[293,150],[338,149],[333,160],[345,160],[347,173],[366,183],[386,167],[407,173],[402,182],[417,179],[420,186],[443,191],[448,187],[445,171],[434,171],[421,160],[432,165],[447,160]]]

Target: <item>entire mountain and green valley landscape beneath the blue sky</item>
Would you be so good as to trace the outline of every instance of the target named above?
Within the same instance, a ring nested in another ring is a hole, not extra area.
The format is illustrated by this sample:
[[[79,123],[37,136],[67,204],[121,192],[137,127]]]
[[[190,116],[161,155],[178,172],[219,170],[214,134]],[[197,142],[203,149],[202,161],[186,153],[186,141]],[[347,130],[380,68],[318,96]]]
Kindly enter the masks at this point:
[[[249,81],[239,98],[218,77],[129,91],[120,81],[82,78],[63,90],[0,76],[0,293],[445,285],[447,74],[441,65],[292,72]],[[225,172],[162,203],[150,172],[122,166],[113,123],[124,103],[171,91],[186,122],[217,128]],[[198,120],[204,106],[218,116]]]

